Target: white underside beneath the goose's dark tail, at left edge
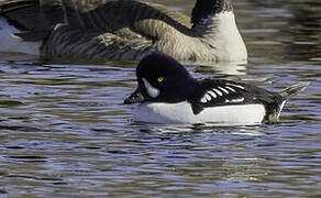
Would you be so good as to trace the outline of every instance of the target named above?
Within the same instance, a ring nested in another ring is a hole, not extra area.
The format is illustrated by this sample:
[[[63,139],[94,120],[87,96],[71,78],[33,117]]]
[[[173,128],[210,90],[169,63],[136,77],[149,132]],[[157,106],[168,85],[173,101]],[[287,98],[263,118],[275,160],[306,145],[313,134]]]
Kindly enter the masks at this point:
[[[7,20],[0,16],[0,52],[22,53],[30,55],[40,55],[42,42],[22,42],[12,37],[13,33],[19,33],[14,26],[8,24]]]

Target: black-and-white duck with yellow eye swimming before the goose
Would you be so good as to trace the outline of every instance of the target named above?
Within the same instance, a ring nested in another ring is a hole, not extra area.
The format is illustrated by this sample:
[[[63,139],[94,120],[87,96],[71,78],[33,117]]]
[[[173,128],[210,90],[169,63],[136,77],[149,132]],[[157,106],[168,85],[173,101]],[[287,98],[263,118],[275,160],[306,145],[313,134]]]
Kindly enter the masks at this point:
[[[139,102],[134,120],[153,123],[273,123],[287,99],[309,85],[272,92],[243,82],[195,79],[181,64],[160,53],[145,56],[136,77],[137,89],[124,103]]]

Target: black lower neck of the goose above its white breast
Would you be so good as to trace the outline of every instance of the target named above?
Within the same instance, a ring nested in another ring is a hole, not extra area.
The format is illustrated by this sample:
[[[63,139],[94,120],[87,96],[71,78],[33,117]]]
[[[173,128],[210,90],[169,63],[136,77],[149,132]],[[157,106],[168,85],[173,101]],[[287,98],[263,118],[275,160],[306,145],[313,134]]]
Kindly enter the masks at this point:
[[[203,19],[224,11],[232,11],[231,0],[197,0],[191,13],[191,23],[201,24]]]

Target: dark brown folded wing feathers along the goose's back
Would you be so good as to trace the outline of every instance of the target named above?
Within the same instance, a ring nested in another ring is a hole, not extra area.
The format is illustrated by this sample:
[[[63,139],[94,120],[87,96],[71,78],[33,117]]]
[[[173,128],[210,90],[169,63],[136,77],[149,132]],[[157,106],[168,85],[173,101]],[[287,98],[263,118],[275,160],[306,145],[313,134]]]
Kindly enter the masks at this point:
[[[124,26],[150,36],[163,21],[171,26],[190,28],[190,19],[174,10],[156,3],[132,0],[63,0],[65,19],[68,25],[84,30],[115,32]],[[148,25],[143,25],[146,23]],[[142,26],[144,26],[142,29]]]

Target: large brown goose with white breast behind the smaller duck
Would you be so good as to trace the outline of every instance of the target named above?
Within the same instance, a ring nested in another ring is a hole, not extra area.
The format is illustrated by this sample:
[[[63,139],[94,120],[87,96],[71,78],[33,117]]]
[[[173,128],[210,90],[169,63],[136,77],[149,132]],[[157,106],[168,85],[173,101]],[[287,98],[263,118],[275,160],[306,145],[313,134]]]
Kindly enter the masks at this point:
[[[247,59],[231,0],[197,0],[191,19],[140,0],[0,0],[0,51],[43,58]]]

